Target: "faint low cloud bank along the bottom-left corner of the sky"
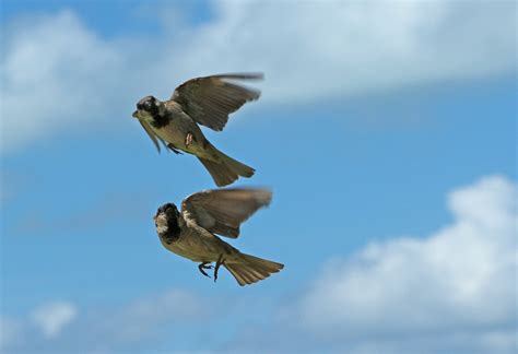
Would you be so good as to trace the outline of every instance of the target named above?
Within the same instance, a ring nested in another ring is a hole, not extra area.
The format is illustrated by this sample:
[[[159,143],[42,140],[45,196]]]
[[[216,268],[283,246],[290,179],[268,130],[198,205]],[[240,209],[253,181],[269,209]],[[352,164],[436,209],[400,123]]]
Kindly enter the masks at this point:
[[[148,341],[178,340],[217,312],[192,292],[169,290],[111,308],[79,310],[69,302],[43,304],[26,316],[1,318],[2,353],[96,352],[134,350]],[[213,299],[212,305],[221,304]]]

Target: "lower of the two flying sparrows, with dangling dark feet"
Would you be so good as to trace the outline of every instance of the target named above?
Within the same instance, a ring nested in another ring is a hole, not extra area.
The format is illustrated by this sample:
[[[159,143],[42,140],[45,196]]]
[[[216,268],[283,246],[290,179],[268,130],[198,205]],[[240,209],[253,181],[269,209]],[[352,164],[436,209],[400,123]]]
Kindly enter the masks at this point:
[[[271,198],[271,191],[261,188],[203,190],[184,199],[181,211],[174,203],[161,205],[153,220],[167,250],[199,262],[205,276],[210,278],[205,270],[213,269],[214,282],[223,266],[244,286],[279,272],[284,264],[243,253],[216,234],[237,238],[240,224],[269,205]]]

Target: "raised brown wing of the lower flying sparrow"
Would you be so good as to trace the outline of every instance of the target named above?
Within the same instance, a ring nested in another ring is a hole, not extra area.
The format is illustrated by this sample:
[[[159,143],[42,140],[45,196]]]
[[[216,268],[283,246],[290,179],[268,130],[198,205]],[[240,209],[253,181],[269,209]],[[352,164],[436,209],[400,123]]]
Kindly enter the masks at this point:
[[[270,203],[268,189],[212,189],[190,194],[181,202],[184,217],[211,233],[236,238],[239,225]]]

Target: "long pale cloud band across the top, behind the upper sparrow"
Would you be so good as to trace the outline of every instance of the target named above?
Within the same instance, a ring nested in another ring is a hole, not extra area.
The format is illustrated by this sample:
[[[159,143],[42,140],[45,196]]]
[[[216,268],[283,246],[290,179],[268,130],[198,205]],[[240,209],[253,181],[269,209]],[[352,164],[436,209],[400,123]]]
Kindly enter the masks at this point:
[[[516,69],[513,2],[213,7],[211,21],[176,14],[154,38],[106,39],[70,11],[15,21],[0,64],[2,149],[129,121],[141,96],[214,72],[262,70],[261,102],[291,104]]]

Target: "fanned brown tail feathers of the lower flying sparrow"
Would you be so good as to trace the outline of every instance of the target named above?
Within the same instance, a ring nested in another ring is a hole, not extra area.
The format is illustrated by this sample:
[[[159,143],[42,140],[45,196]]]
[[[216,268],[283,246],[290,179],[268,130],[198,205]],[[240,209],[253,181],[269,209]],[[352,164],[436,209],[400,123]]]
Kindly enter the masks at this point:
[[[234,275],[240,286],[267,279],[284,268],[284,264],[245,253],[240,253],[240,259],[236,263],[225,262],[223,266]]]

